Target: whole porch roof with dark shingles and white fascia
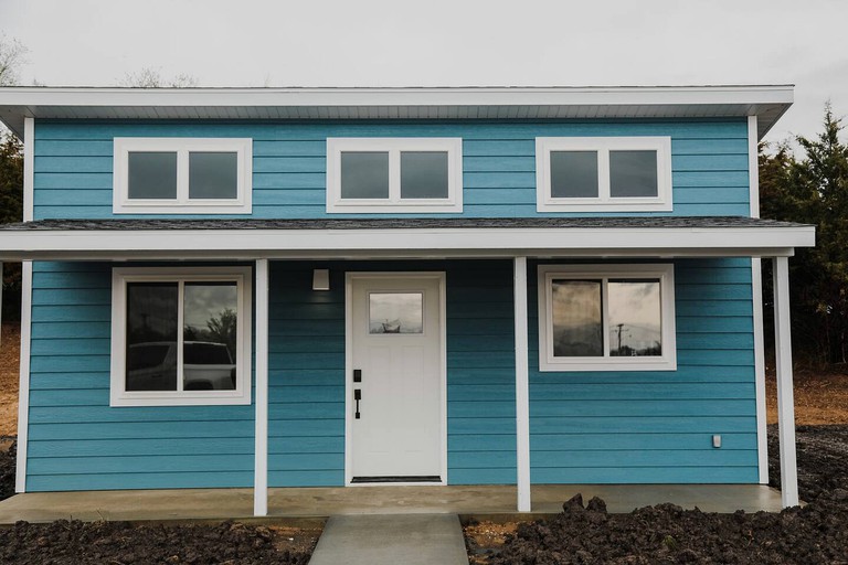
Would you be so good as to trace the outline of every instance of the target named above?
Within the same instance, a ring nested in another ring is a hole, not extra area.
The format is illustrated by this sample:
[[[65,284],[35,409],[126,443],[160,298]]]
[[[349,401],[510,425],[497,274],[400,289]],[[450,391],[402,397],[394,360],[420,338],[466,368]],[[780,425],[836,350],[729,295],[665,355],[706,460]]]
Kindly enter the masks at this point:
[[[752,217],[40,220],[0,260],[791,256],[812,225]]]

